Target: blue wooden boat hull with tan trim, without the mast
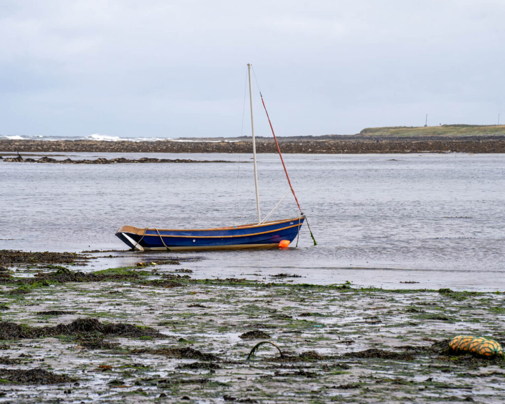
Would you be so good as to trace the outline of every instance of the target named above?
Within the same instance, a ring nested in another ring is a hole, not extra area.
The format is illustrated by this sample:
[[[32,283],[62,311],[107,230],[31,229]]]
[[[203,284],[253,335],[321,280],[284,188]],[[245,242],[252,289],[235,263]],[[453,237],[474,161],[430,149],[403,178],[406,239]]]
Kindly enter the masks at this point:
[[[139,251],[273,248],[298,235],[305,217],[212,229],[153,229],[123,226],[116,236]]]

